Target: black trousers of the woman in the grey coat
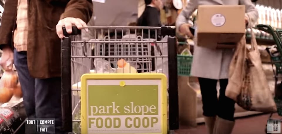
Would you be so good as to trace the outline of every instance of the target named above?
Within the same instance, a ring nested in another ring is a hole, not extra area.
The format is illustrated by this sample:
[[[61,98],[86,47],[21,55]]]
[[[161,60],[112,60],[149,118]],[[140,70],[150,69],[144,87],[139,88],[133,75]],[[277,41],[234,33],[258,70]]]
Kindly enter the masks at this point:
[[[203,115],[218,116],[234,121],[235,101],[225,96],[228,79],[220,79],[219,98],[217,98],[216,84],[218,80],[198,78],[202,94]]]

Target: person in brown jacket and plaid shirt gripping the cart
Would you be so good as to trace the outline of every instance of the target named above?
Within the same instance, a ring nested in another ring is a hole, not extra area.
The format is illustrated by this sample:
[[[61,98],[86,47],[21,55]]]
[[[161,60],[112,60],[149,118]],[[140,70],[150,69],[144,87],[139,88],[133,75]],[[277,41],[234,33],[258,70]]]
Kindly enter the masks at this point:
[[[0,65],[14,63],[28,118],[55,118],[61,133],[62,26],[87,26],[91,0],[6,0],[0,26]]]

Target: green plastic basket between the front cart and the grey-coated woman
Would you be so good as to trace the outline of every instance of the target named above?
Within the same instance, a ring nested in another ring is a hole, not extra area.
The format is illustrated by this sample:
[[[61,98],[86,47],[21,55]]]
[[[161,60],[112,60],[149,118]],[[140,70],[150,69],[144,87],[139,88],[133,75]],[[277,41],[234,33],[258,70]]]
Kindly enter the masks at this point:
[[[177,55],[178,76],[190,76],[193,56]]]

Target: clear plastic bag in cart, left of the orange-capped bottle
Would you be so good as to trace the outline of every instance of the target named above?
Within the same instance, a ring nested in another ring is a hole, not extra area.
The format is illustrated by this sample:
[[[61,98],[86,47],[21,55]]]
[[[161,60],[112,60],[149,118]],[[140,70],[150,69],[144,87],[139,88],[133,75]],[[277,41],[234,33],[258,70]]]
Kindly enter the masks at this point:
[[[95,73],[115,73],[116,68],[112,68],[109,61],[103,58],[95,58],[94,60]]]

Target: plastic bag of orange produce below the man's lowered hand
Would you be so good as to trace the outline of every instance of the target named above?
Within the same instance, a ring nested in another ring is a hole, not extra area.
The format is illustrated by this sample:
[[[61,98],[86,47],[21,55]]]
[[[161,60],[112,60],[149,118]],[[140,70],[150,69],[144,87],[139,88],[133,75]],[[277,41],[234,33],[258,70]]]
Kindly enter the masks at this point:
[[[0,103],[9,102],[13,95],[22,97],[18,75],[14,70],[4,71],[0,79]]]

